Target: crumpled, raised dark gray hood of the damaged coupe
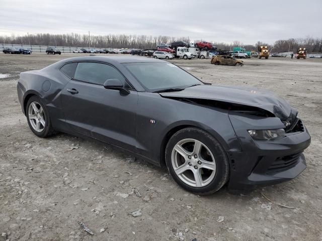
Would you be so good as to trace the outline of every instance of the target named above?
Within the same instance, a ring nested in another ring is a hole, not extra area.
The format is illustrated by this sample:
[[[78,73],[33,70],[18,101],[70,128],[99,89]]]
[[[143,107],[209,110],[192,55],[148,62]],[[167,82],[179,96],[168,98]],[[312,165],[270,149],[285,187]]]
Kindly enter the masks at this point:
[[[273,92],[246,86],[197,85],[182,91],[163,92],[159,94],[163,97],[209,99],[255,106],[273,113],[281,120],[287,119],[292,112],[290,104]]]

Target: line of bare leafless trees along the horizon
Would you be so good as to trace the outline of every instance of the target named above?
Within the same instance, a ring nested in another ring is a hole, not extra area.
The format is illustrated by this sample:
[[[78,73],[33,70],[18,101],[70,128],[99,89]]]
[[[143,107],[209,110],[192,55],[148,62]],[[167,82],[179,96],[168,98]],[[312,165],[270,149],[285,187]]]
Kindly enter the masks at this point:
[[[157,44],[170,44],[174,41],[190,43],[189,37],[175,38],[170,36],[147,35],[86,35],[86,34],[29,34],[24,36],[0,36],[0,43],[4,44],[28,44],[44,46],[70,46],[86,48],[136,48],[154,49]],[[306,48],[309,53],[322,52],[322,38],[298,38],[277,40],[273,45],[258,41],[254,45],[245,45],[240,41],[232,41],[230,44],[212,42],[221,50],[232,50],[233,47],[243,47],[249,51],[256,51],[259,45],[268,46],[272,52],[296,52],[298,48]]]

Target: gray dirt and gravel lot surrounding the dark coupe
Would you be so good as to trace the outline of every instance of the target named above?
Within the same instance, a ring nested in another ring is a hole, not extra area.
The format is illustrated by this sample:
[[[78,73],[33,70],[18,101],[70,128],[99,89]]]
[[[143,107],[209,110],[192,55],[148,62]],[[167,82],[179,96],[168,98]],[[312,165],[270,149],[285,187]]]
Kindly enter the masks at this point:
[[[9,74],[0,78],[0,234],[8,233],[10,241],[322,240],[322,59],[253,58],[243,67],[171,61],[204,81],[277,92],[299,110],[312,136],[307,169],[293,181],[245,195],[223,189],[197,196],[181,189],[166,169],[130,162],[109,145],[33,135],[18,102],[19,73],[70,56],[0,54],[0,74]],[[137,209],[141,216],[128,215]]]

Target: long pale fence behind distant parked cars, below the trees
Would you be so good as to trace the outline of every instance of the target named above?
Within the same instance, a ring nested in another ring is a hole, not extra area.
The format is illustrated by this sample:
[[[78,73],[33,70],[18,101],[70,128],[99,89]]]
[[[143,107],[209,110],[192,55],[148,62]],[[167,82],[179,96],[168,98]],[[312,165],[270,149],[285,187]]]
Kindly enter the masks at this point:
[[[60,50],[62,53],[72,53],[73,51],[78,51],[80,49],[89,49],[89,47],[66,47],[66,46],[48,46],[48,45],[27,45],[27,44],[0,44],[0,51],[3,51],[4,48],[24,48],[30,49],[33,53],[45,53],[48,47],[55,47],[57,50]],[[108,49],[112,50],[113,48],[91,48],[95,50]]]

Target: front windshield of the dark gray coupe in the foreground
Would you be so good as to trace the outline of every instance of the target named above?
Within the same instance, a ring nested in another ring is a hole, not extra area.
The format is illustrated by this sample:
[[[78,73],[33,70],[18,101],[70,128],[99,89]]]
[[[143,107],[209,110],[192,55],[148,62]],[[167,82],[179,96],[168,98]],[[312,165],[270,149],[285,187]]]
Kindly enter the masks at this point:
[[[203,84],[193,75],[171,63],[125,63],[124,65],[143,87],[151,92]]]

